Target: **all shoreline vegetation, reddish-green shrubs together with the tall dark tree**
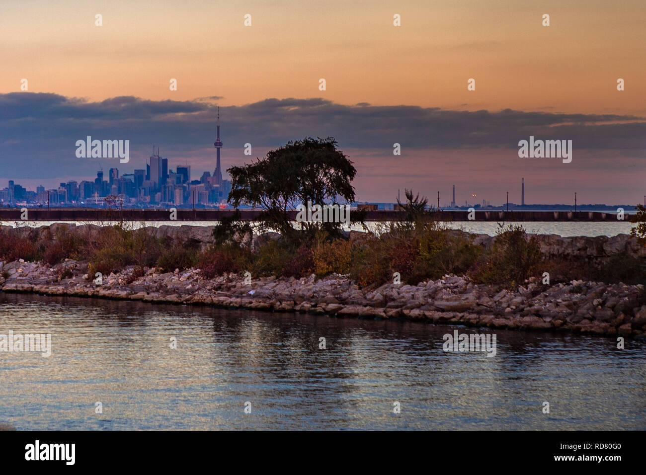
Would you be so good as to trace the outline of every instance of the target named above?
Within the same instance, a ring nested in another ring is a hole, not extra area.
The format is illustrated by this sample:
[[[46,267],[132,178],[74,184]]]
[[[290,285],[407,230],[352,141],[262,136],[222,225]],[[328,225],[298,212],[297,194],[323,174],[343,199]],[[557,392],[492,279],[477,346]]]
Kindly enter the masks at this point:
[[[144,268],[165,271],[199,268],[205,278],[224,273],[250,272],[255,276],[318,277],[349,275],[360,286],[380,285],[401,279],[417,284],[446,274],[466,275],[476,284],[516,288],[530,277],[550,282],[646,283],[643,259],[617,254],[598,266],[592,260],[550,259],[541,254],[535,237],[523,227],[500,225],[490,248],[474,244],[471,237],[455,233],[435,219],[426,198],[406,190],[400,219],[376,231],[344,233],[339,222],[306,222],[293,226],[287,215],[295,204],[354,200],[351,185],[356,170],[337,151],[333,138],[306,138],[271,151],[262,160],[229,169],[234,206],[247,204],[264,209],[256,228],[236,216],[222,219],[213,232],[213,244],[200,250],[198,243],[157,238],[150,230],[121,222],[101,227],[92,235],[70,233],[57,227],[46,240],[34,242],[3,231],[0,260],[43,260],[53,266],[64,259],[87,260],[89,278],[136,266],[132,279]],[[362,222],[354,212],[355,222]],[[646,209],[638,206],[632,234],[646,244]],[[280,231],[263,233],[269,229]],[[256,231],[256,232],[254,232]]]

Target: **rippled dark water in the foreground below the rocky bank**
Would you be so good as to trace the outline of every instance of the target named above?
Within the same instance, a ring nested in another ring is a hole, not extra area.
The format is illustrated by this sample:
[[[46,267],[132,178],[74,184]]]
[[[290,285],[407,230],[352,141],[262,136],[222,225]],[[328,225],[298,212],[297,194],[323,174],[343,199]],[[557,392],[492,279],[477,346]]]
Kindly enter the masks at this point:
[[[0,333],[52,334],[50,357],[0,352],[0,422],[23,430],[646,429],[645,341],[617,350],[607,337],[496,330],[497,354],[487,357],[444,352],[443,335],[455,328],[0,293]]]

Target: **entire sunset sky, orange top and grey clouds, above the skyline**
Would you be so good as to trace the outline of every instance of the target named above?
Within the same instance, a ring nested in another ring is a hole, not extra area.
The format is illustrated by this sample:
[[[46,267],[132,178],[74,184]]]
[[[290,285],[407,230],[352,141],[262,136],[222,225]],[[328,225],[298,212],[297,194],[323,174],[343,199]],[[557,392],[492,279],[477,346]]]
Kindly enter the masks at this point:
[[[154,144],[199,178],[219,105],[224,167],[335,136],[359,200],[406,187],[448,203],[455,184],[461,204],[519,202],[525,177],[528,203],[641,202],[645,25],[639,0],[3,0],[0,187],[92,180],[99,160],[74,154],[87,135],[130,140],[106,172],[144,168]],[[572,163],[519,158],[530,135],[572,140]]]

